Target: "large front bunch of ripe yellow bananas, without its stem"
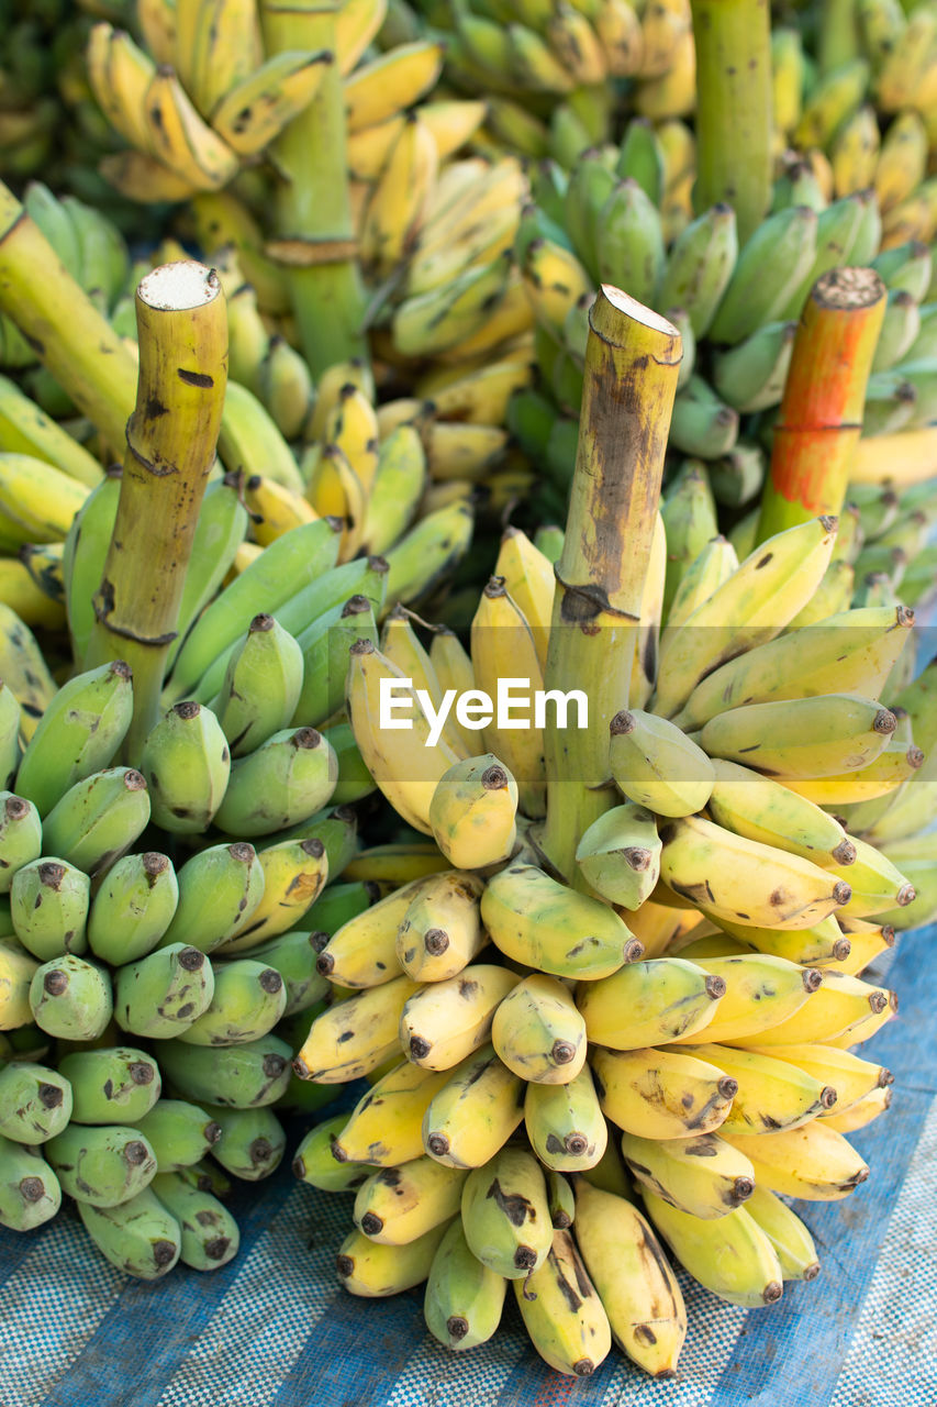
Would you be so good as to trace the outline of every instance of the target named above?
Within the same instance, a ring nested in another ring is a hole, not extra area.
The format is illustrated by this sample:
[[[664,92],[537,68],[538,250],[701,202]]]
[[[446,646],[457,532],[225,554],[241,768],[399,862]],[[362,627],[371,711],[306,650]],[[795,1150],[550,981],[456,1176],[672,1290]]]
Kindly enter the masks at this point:
[[[561,706],[542,688],[550,557],[505,535],[468,651],[439,629],[421,644],[402,615],[380,647],[350,649],[362,757],[428,841],[346,872],[391,888],[324,941],[333,999],[298,1024],[294,1067],[314,1088],[370,1088],[310,1130],[294,1172],[355,1193],[336,1259],[350,1293],[425,1282],[429,1332],[459,1351],[491,1338],[512,1282],[568,1376],[612,1341],[674,1373],[687,1310],[661,1245],[746,1307],[813,1279],[782,1199],[860,1186],[847,1134],[891,1097],[854,1047],[896,1010],[861,974],[917,902],[898,858],[912,850],[837,817],[846,788],[898,805],[919,785],[910,726],[933,732],[934,670],[891,692],[903,606],[847,594],[809,615],[834,521],[739,563],[701,516],[658,518],[609,733],[618,792],[570,882],[537,844],[544,709]],[[914,844],[916,878],[933,837]]]

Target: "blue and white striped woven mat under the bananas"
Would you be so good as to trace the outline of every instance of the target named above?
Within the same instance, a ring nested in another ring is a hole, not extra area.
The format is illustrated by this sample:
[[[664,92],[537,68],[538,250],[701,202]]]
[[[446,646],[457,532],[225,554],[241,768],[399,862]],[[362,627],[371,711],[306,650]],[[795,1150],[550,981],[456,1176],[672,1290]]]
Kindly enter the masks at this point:
[[[293,1182],[243,1186],[241,1255],[145,1285],[59,1216],[0,1228],[0,1407],[934,1407],[937,1404],[937,929],[888,971],[900,1017],[872,1043],[891,1112],[854,1135],[872,1173],[844,1202],[799,1207],[823,1273],[746,1313],[684,1280],[677,1380],[618,1351],[573,1382],[525,1342],[514,1304],[495,1338],[450,1354],[421,1294],[363,1303],[336,1285],[350,1199]],[[865,1048],[864,1048],[865,1054]]]

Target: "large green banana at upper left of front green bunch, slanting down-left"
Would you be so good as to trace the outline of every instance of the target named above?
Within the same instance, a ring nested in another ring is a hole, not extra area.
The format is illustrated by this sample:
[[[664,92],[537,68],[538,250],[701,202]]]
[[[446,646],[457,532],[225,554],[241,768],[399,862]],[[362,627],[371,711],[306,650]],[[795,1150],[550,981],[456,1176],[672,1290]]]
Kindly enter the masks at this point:
[[[48,815],[75,782],[107,767],[131,712],[131,670],[122,660],[76,674],[37,725],[20,763],[17,792]]]

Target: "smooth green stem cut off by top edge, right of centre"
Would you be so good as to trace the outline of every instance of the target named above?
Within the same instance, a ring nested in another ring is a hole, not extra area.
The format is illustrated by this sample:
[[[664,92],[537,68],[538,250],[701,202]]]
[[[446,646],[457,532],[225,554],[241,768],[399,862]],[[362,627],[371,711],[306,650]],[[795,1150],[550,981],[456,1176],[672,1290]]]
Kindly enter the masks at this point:
[[[699,211],[726,201],[744,245],[771,205],[768,0],[691,0],[696,44]]]

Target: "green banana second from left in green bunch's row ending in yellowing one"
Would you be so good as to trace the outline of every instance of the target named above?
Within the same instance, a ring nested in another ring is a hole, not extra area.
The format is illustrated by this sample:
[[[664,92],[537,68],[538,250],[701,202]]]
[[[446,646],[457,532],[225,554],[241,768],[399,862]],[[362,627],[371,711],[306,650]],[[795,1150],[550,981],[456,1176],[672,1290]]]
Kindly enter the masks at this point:
[[[96,889],[87,916],[91,953],[120,967],[156,947],[179,903],[179,882],[169,855],[148,850],[124,855]]]

